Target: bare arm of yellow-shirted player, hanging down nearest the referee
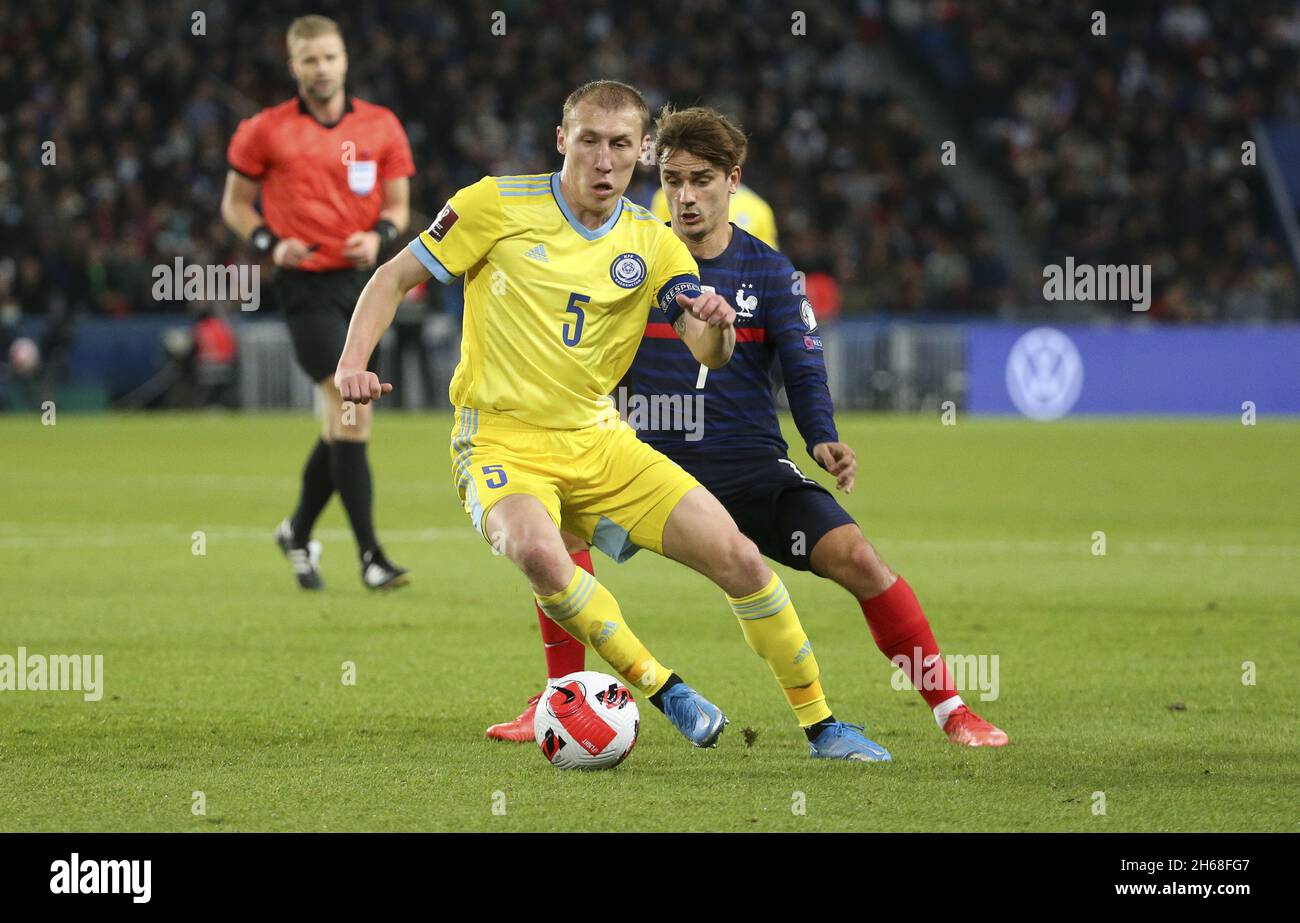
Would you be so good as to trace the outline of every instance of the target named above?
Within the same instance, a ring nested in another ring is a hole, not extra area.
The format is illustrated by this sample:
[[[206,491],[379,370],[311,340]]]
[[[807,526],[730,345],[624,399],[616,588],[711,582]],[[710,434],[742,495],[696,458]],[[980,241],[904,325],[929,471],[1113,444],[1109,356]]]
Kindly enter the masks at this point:
[[[429,270],[420,265],[410,250],[403,250],[374,270],[361,290],[347,325],[347,342],[334,372],[334,386],[343,400],[368,404],[393,390],[393,385],[380,382],[380,377],[367,370],[370,354],[380,337],[393,322],[393,315],[406,294],[429,278]]]

